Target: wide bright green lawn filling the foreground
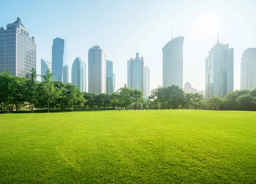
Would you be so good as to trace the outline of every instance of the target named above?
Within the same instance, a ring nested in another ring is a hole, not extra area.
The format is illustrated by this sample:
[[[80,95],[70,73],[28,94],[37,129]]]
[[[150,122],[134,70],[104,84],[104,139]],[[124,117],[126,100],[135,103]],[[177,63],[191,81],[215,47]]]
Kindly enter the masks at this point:
[[[0,115],[0,183],[256,183],[256,112]]]

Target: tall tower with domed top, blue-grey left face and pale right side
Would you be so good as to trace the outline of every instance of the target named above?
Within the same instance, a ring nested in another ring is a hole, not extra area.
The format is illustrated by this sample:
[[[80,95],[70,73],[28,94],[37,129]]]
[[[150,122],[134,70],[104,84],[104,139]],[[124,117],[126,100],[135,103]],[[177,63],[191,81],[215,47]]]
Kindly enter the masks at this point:
[[[89,93],[106,93],[106,55],[99,46],[88,53]]]

